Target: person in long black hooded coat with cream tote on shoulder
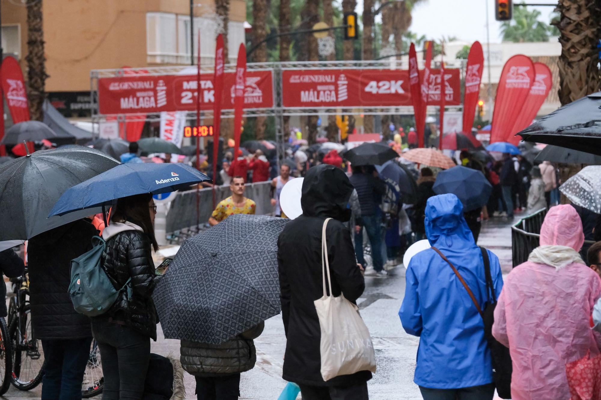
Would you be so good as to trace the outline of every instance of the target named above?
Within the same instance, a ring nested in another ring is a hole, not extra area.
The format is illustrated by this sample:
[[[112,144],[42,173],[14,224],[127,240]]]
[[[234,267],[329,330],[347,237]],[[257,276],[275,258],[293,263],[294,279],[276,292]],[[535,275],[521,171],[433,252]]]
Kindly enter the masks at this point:
[[[356,263],[348,207],[353,186],[332,165],[311,168],[302,185],[303,214],[288,222],[278,238],[278,270],[282,319],[287,344],[283,378],[301,387],[304,400],[368,399],[371,372],[360,371],[324,381],[320,372],[321,330],[314,301],[322,297],[322,226],[326,229],[332,294],[356,302],[365,289]]]

